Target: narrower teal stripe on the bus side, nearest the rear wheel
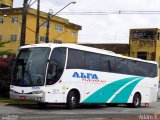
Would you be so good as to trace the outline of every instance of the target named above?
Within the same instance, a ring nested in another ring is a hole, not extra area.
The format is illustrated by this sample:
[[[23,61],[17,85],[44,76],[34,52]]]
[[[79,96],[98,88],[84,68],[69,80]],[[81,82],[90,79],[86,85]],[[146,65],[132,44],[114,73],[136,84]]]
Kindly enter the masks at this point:
[[[142,80],[143,78],[140,78],[131,84],[127,85],[124,89],[118,93],[114,99],[111,101],[111,103],[127,103],[128,99],[130,97],[130,94],[132,93],[135,86]]]

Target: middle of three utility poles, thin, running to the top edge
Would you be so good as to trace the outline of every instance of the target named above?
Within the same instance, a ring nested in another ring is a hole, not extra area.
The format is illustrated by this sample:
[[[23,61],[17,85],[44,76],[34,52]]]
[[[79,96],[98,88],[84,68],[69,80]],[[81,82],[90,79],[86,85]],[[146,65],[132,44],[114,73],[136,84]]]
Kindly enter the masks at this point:
[[[39,13],[40,13],[40,0],[37,0],[37,25],[35,34],[35,43],[38,44],[39,40]]]

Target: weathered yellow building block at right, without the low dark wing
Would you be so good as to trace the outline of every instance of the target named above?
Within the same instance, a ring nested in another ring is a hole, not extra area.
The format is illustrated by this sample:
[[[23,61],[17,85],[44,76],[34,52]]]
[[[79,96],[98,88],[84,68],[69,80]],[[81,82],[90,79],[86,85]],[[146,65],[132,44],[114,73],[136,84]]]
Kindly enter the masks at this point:
[[[160,63],[160,29],[131,29],[129,46],[130,57]]]

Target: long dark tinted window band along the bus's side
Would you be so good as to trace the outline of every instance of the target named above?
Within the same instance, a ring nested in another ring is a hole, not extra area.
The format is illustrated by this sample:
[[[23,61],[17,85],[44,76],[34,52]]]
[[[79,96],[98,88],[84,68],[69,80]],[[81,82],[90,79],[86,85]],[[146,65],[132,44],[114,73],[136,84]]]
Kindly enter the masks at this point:
[[[75,49],[69,49],[67,69],[87,69],[118,74],[157,77],[156,64]]]

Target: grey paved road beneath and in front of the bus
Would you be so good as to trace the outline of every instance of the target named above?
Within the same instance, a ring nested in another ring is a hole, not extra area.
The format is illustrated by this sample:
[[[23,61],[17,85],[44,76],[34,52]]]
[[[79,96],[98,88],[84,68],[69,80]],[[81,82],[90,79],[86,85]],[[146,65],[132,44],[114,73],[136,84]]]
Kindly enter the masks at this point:
[[[63,105],[50,105],[45,109],[36,104],[0,105],[0,114],[2,120],[160,120],[160,102],[141,108],[82,105],[74,110],[67,110]]]

